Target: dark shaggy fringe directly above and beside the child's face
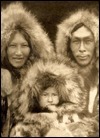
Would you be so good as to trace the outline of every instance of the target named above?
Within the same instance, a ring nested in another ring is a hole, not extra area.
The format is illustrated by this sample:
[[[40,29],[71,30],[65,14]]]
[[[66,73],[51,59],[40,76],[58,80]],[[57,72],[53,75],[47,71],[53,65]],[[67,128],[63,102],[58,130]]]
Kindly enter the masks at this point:
[[[65,91],[63,91],[64,95],[61,93],[61,89],[63,90],[63,87],[65,87],[65,84],[66,84],[63,77],[57,76],[50,72],[44,72],[39,74],[39,77],[37,78],[37,83],[38,83],[38,86],[40,87],[38,96],[40,95],[40,93],[44,92],[48,88],[55,88],[59,96],[59,100],[60,100],[59,103],[66,102],[67,93]]]

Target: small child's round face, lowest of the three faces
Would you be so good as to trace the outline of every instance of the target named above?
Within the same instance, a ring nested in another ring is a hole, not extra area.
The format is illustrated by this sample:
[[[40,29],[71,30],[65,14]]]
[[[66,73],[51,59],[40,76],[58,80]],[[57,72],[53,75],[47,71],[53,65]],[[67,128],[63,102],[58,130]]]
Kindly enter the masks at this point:
[[[55,88],[50,87],[39,96],[39,104],[42,108],[50,108],[59,103],[59,96]]]

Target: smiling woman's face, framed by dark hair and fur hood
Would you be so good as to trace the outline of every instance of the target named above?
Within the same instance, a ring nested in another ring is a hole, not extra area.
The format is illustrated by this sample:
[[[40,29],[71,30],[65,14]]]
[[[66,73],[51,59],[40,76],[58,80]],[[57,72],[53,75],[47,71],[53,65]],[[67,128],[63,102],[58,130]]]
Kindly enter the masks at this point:
[[[27,61],[30,47],[24,36],[17,32],[7,48],[7,56],[10,64],[15,68],[21,68]]]

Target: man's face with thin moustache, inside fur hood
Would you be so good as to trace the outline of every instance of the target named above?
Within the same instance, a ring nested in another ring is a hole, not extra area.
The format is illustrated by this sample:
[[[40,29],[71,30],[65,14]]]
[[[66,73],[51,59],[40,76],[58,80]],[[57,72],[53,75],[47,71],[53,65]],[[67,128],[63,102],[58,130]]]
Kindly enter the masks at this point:
[[[71,50],[80,66],[88,65],[95,51],[95,40],[92,32],[85,26],[72,33]]]

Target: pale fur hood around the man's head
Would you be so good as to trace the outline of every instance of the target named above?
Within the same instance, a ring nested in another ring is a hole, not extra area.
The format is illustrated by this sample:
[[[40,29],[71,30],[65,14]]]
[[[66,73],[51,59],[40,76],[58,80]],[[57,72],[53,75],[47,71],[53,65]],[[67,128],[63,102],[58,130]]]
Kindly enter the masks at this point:
[[[96,46],[96,57],[99,57],[99,18],[98,16],[89,10],[80,9],[73,13],[70,17],[63,20],[57,27],[58,32],[56,36],[56,52],[58,55],[64,56],[65,58],[68,56],[68,40],[71,37],[71,31],[74,27],[83,23],[87,26],[95,38],[95,46]]]

